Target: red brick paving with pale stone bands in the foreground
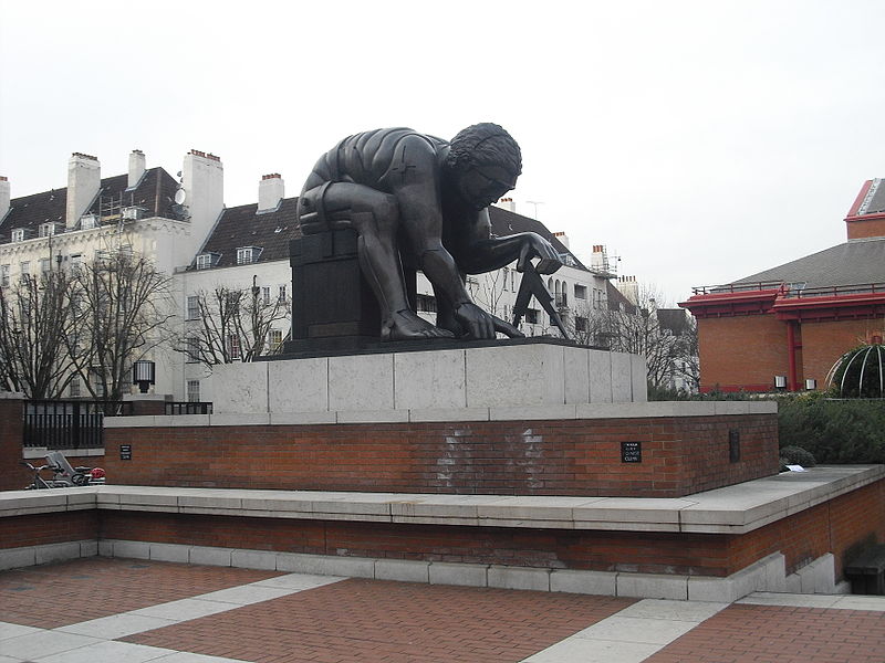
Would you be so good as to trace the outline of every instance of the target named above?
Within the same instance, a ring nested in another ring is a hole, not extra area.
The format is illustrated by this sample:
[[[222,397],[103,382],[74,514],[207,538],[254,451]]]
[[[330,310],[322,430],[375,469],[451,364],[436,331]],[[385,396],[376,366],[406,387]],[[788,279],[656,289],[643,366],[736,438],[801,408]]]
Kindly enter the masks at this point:
[[[885,598],[635,600],[92,558],[0,572],[0,663],[883,663]]]

